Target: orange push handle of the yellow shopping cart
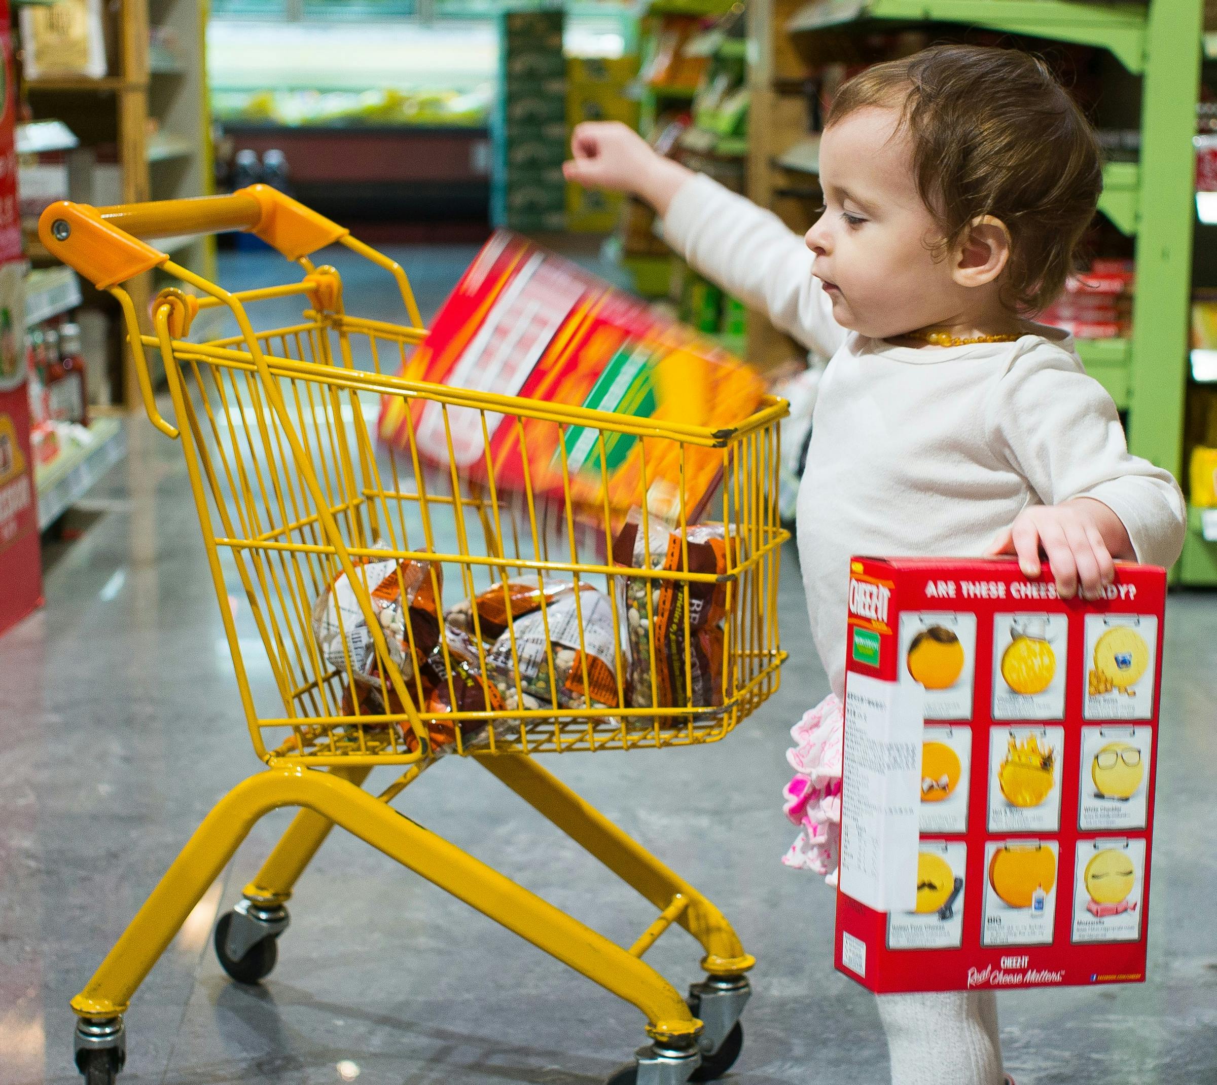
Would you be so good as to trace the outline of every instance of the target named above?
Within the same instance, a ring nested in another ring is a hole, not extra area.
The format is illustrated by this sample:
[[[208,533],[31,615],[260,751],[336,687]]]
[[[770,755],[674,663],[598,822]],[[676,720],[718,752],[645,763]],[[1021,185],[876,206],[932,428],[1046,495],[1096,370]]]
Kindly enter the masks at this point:
[[[148,240],[183,234],[245,230],[298,260],[350,231],[269,185],[231,196],[197,196],[90,207],[58,201],[38,220],[38,237],[51,255],[79,271],[97,289],[110,289],[168,263]]]

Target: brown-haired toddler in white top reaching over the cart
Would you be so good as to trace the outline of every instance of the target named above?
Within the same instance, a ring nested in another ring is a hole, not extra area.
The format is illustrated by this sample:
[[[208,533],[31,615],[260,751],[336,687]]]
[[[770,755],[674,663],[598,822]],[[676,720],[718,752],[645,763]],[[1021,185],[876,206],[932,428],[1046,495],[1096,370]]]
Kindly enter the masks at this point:
[[[851,555],[1014,553],[1027,577],[1045,556],[1065,597],[1095,596],[1114,558],[1176,561],[1174,479],[1128,454],[1072,338],[1027,319],[1064,287],[1103,184],[1093,131],[1041,61],[936,46],[845,84],[806,238],[624,125],[579,125],[573,152],[567,178],[651,203],[694,268],[831,356],[797,524],[832,696],[809,714],[802,775],[840,777]],[[795,850],[826,872],[815,836]],[[894,1085],[1003,1081],[992,991],[879,1007]]]

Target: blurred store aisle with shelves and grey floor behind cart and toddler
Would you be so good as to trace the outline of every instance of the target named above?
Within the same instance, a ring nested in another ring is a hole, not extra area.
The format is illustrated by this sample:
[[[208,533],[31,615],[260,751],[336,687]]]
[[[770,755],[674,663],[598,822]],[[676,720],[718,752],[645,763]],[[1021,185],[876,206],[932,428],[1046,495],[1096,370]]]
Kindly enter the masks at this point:
[[[688,268],[649,209],[567,186],[571,130],[629,124],[802,232],[824,202],[836,89],[936,41],[1044,56],[1099,130],[1094,259],[1042,319],[1075,333],[1133,450],[1189,501],[1167,609],[1150,980],[1003,994],[1009,1068],[1019,1085],[1217,1081],[1217,2],[514,6],[0,0],[0,1085],[79,1080],[69,997],[214,802],[259,768],[180,449],[144,416],[113,299],[39,242],[41,210],[268,184],[385,246],[428,317],[506,226],[746,358],[806,416],[821,360]],[[163,246],[231,289],[284,276],[246,235]],[[399,317],[380,272],[344,251],[326,262],[352,311]],[[168,285],[159,270],[135,280],[136,308]],[[163,376],[158,392],[166,404]],[[830,965],[832,894],[779,865],[789,729],[826,692],[793,547],[784,558],[791,659],[755,719],[713,746],[548,764],[757,955],[727,1080],[882,1085],[874,999]],[[251,678],[269,688],[267,668]],[[441,764],[399,808],[611,937],[652,918],[473,764]],[[287,817],[256,828],[139,990],[120,1081],[598,1085],[641,1042],[632,1008],[341,833],[292,900],[273,976],[230,983],[215,917]],[[695,956],[673,932],[647,960],[683,989]]]

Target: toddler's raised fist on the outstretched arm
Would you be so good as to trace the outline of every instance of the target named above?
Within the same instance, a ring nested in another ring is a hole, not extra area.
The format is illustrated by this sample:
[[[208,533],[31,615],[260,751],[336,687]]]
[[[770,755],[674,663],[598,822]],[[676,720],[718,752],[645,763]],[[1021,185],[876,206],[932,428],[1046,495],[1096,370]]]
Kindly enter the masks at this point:
[[[574,158],[562,165],[568,181],[640,196],[661,215],[691,170],[664,158],[619,120],[588,120],[571,136]]]

